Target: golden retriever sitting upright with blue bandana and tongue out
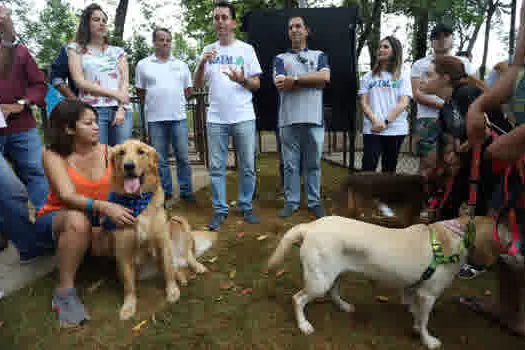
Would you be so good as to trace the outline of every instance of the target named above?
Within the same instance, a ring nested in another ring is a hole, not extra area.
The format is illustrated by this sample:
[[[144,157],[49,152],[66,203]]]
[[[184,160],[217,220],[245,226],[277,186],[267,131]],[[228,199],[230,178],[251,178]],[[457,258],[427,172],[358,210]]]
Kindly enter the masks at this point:
[[[105,230],[113,231],[115,237],[115,255],[124,284],[120,319],[126,320],[136,311],[136,265],[141,257],[154,253],[164,272],[168,302],[176,302],[180,291],[173,265],[170,224],[164,210],[164,192],[158,176],[157,152],[140,141],[129,140],[111,149],[110,162],[113,173],[109,200],[133,209],[138,218],[136,225],[128,227],[114,227],[104,221]]]

